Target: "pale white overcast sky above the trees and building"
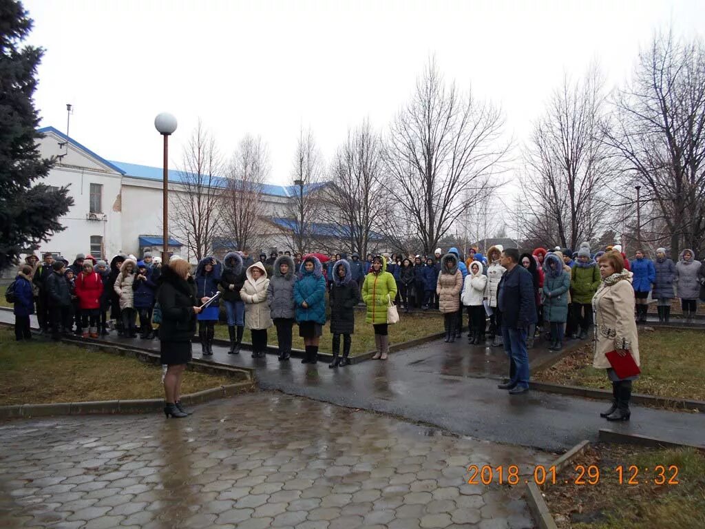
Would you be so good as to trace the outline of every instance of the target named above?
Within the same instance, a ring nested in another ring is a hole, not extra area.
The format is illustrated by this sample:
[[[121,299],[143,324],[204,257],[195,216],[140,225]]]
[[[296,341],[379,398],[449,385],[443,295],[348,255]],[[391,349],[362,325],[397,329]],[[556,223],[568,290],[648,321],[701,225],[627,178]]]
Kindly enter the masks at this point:
[[[102,157],[161,166],[154,116],[178,130],[171,165],[200,117],[223,152],[262,135],[271,180],[290,183],[300,127],[330,160],[369,117],[385,130],[430,55],[447,80],[500,104],[520,146],[564,73],[599,61],[610,86],[673,23],[705,33],[705,1],[25,0],[43,126]]]

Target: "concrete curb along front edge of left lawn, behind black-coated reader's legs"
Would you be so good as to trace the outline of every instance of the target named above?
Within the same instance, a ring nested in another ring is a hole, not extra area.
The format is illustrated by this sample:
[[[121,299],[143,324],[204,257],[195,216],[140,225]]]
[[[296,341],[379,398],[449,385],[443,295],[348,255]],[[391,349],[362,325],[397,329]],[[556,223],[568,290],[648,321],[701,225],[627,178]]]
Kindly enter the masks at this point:
[[[185,405],[214,401],[255,389],[251,380],[237,382],[196,393],[184,395]],[[54,404],[20,404],[0,406],[0,419],[36,418],[50,415],[109,415],[114,413],[154,413],[164,408],[164,399],[139,399],[124,401],[61,402]]]

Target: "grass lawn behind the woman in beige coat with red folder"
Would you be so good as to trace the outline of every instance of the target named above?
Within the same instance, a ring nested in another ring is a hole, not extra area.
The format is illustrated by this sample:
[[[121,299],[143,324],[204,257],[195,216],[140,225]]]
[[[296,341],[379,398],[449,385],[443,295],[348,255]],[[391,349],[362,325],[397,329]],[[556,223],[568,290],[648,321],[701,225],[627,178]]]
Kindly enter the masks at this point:
[[[642,374],[636,393],[705,401],[705,334],[701,330],[639,330]],[[592,367],[593,346],[583,346],[534,377],[542,382],[611,389],[604,370]]]

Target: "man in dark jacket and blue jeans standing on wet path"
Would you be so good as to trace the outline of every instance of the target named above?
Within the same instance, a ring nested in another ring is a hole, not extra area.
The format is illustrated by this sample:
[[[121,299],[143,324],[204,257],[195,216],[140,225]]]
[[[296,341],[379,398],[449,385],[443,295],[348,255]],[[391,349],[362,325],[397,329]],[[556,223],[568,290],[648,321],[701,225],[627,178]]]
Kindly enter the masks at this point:
[[[537,322],[534,281],[531,273],[519,266],[519,250],[507,248],[500,264],[507,269],[499,281],[497,305],[502,312],[502,338],[509,356],[510,381],[499,389],[509,389],[510,395],[529,391],[529,354],[527,330]]]

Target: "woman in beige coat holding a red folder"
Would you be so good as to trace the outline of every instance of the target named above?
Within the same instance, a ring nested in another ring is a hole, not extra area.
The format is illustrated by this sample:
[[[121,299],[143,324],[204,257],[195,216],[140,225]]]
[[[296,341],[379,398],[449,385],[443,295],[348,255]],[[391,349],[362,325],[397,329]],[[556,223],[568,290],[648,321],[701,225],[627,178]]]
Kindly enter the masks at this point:
[[[619,363],[639,366],[639,336],[634,320],[632,273],[625,270],[623,257],[618,252],[605,253],[598,263],[602,283],[592,298],[595,315],[595,355],[592,365],[607,370],[607,376],[612,382],[612,406],[600,415],[607,420],[629,420],[632,380],[637,379],[637,375],[620,377],[613,368],[613,362],[616,358]],[[613,351],[616,351],[616,357],[609,354]]]

